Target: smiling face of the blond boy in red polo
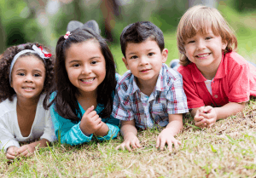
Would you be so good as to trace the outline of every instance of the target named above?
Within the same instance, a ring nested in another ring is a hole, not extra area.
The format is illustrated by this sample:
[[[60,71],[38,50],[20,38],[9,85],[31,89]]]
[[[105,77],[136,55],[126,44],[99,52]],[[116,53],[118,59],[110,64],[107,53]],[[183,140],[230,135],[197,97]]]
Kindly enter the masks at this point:
[[[199,69],[201,67],[218,69],[222,59],[222,50],[226,46],[227,43],[223,43],[222,37],[215,36],[212,30],[209,30],[207,34],[197,32],[194,37],[187,39],[184,45],[185,55]]]

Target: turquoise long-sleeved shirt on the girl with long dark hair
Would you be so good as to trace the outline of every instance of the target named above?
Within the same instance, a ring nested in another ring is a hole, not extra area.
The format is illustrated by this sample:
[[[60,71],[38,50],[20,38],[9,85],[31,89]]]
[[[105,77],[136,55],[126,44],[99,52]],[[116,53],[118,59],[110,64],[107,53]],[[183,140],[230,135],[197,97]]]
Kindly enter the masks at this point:
[[[50,101],[53,100],[55,97],[55,92],[50,96]],[[79,108],[84,115],[84,108],[80,106]],[[96,113],[99,114],[104,109],[102,104],[98,104],[96,106]],[[52,118],[52,122],[54,124],[55,135],[57,139],[61,139],[61,143],[67,143],[69,145],[79,145],[84,142],[89,142],[92,138],[92,135],[86,136],[80,129],[80,122],[73,123],[71,120],[67,118],[62,118],[56,111],[55,111],[55,103],[53,103],[50,107],[50,115]],[[106,141],[110,139],[114,139],[117,137],[119,133],[119,119],[113,118],[110,116],[109,118],[102,118],[102,122],[108,125],[108,135],[103,137],[96,137],[100,141]]]

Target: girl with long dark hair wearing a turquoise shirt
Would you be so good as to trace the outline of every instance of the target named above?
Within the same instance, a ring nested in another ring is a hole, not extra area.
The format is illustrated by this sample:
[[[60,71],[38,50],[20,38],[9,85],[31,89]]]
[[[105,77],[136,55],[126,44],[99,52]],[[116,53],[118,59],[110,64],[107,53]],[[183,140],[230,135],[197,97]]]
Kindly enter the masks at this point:
[[[110,117],[116,85],[113,55],[100,35],[87,28],[59,38],[55,84],[49,106],[53,104],[50,113],[61,143],[79,145],[92,135],[100,141],[117,136],[119,120]]]

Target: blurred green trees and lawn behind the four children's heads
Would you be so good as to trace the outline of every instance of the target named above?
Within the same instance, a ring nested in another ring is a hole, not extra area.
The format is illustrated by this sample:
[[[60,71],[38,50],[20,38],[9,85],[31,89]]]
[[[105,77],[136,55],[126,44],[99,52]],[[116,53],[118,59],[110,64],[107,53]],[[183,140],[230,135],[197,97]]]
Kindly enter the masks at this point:
[[[205,4],[218,9],[236,31],[238,53],[256,63],[255,0],[0,0],[0,54],[9,46],[43,43],[55,53],[70,20],[96,20],[108,39],[120,74],[122,62],[119,35],[125,26],[150,20],[164,32],[168,60],[178,58],[176,28],[189,7]]]

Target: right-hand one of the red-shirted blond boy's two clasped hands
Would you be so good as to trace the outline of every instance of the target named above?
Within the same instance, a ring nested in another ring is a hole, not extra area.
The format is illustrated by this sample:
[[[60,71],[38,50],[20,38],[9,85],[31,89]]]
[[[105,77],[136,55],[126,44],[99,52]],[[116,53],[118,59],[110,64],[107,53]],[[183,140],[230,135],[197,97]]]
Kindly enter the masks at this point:
[[[201,113],[201,116],[207,118],[206,123],[207,127],[210,128],[217,120],[217,113],[212,106],[206,106]]]

